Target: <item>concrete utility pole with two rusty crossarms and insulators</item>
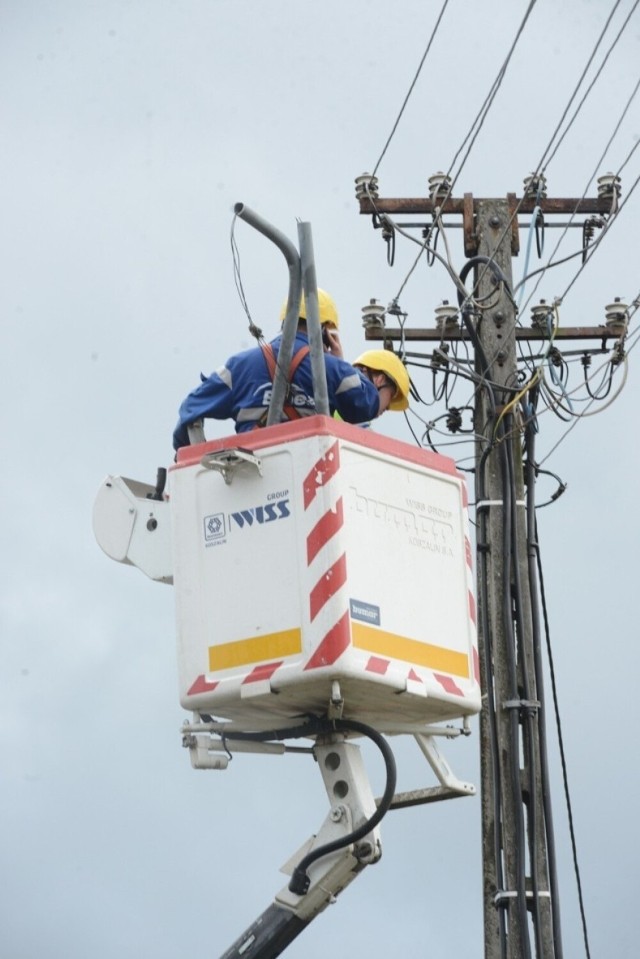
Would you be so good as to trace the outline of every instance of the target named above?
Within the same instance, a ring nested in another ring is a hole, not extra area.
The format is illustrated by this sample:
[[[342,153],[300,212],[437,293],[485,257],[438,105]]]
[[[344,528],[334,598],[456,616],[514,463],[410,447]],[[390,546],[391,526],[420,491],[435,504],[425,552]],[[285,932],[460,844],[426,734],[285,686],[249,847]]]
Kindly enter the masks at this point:
[[[459,278],[473,296],[458,289],[459,311],[453,313],[459,319],[431,329],[392,329],[375,311],[367,322],[364,312],[368,340],[383,340],[390,349],[394,341],[405,347],[431,341],[434,368],[443,356],[447,362],[445,341],[466,340],[474,350],[485,959],[562,959],[538,628],[535,462],[526,439],[538,387],[535,376],[519,379],[517,357],[518,341],[549,339],[551,309],[539,308],[543,322],[532,328],[517,325],[512,258],[520,247],[518,215],[528,215],[527,228],[533,215],[540,229],[545,217],[586,214],[592,234],[615,211],[618,183],[602,177],[593,199],[547,199],[544,183],[534,179],[520,199],[456,199],[438,174],[429,198],[382,199],[375,177],[356,180],[360,212],[373,218],[387,244],[395,242],[398,214],[422,216],[411,225],[427,238],[445,216],[458,218],[458,226],[462,217],[468,259]],[[585,226],[583,237],[588,235]],[[610,326],[553,330],[555,344],[596,339],[604,350],[613,338]]]

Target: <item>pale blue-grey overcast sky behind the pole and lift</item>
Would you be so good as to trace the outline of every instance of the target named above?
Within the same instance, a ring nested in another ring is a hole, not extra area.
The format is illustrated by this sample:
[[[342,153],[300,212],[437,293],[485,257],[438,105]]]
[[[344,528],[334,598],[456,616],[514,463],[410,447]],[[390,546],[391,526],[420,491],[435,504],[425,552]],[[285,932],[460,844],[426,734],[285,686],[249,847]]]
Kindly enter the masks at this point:
[[[526,6],[450,0],[380,163],[382,196],[425,196],[428,177],[449,168]],[[632,6],[620,3],[596,66]],[[455,195],[521,194],[612,7],[538,0]],[[311,222],[318,282],[338,303],[345,352],[362,350],[362,305],[398,293],[416,248],[399,242],[387,266],[353,181],[376,165],[440,8],[440,0],[0,0],[7,959],[215,957],[269,904],[285,881],[279,867],[324,818],[308,759],[239,756],[224,773],[191,769],[180,746],[172,589],[109,561],[91,511],[108,473],[154,482],[171,462],[177,408],[200,371],[250,345],[229,243],[237,201],[294,240],[296,218]],[[637,82],[639,48],[637,13],[549,164],[549,196],[594,195],[594,173],[617,170],[637,142],[633,101],[600,162]],[[633,154],[623,198],[639,168]],[[600,324],[614,297],[638,294],[639,206],[632,193],[567,295],[563,325]],[[551,245],[558,231],[547,232]],[[284,261],[245,224],[235,235],[253,318],[275,334]],[[574,230],[563,250],[579,242]],[[576,269],[574,260],[549,271],[534,302],[562,295]],[[401,296],[408,325],[431,325],[443,299],[455,299],[450,278],[420,264]],[[547,414],[538,437],[545,467],[568,484],[539,522],[591,949],[620,959],[638,953],[639,357],[631,351],[625,388],[599,416],[565,436],[570,424]],[[428,392],[427,374],[415,379]],[[399,414],[376,428],[414,442]],[[209,435],[228,432],[217,423]],[[554,489],[541,480],[540,500]],[[582,933],[553,725],[573,959]],[[415,744],[394,749],[399,788],[433,784]],[[474,723],[472,739],[446,751],[476,783],[477,749]],[[480,959],[479,798],[394,812],[382,836],[382,861],[287,955]]]

